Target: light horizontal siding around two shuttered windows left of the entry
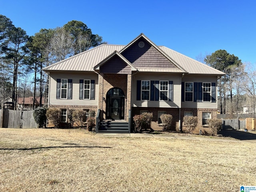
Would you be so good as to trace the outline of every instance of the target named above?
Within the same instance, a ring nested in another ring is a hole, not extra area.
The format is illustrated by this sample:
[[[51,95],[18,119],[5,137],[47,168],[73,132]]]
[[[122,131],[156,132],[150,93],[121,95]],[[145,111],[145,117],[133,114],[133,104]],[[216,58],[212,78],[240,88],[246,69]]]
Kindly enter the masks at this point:
[[[57,79],[72,79],[72,99],[56,99]],[[79,80],[95,80],[95,100],[79,99]],[[94,72],[88,73],[50,73],[49,105],[81,105],[98,106],[98,75]]]

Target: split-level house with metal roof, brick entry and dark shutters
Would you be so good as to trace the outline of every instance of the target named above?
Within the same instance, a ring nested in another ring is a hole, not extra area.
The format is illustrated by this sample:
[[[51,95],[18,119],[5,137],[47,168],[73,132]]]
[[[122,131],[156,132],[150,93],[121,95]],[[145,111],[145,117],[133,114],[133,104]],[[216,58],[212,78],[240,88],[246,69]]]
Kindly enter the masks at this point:
[[[154,130],[162,130],[161,114],[173,116],[173,130],[182,129],[184,116],[198,116],[199,132],[217,116],[217,78],[224,75],[157,46],[144,34],[127,45],[102,44],[43,70],[50,76],[48,107],[60,108],[64,122],[70,108],[95,110],[96,132],[130,132],[132,117],[143,112],[153,113]]]

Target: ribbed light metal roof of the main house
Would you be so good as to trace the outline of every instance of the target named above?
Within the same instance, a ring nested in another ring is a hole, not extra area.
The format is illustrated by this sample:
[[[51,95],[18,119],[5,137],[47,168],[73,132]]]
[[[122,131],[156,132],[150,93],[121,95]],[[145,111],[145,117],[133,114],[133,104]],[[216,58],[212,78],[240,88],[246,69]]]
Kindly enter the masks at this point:
[[[189,74],[216,74],[224,75],[224,72],[216,70],[206,64],[198,62],[183,54],[180,54],[165,46],[156,46],[164,56],[176,63],[178,68],[137,68],[141,72],[188,72]],[[113,54],[115,51],[121,51],[126,48],[124,45],[102,44],[55,64],[45,67],[43,70],[48,71],[94,71],[94,67],[100,64],[104,59]]]

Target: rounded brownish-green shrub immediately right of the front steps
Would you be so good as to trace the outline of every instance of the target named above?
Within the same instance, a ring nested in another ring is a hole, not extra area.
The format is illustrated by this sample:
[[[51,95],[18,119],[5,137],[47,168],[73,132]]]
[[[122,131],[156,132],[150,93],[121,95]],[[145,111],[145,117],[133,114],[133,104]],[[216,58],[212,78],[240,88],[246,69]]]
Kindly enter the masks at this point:
[[[146,130],[147,128],[150,128],[151,121],[153,118],[152,113],[142,113],[140,115],[135,115],[133,117],[135,129],[134,131],[137,133],[142,132],[142,130]]]

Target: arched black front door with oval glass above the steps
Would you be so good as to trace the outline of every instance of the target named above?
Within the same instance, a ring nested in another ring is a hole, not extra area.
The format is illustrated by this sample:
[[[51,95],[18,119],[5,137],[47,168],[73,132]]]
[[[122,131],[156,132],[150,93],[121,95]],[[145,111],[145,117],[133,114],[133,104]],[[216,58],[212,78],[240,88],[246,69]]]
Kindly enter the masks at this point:
[[[124,119],[124,92],[120,88],[111,88],[106,95],[106,118]]]

